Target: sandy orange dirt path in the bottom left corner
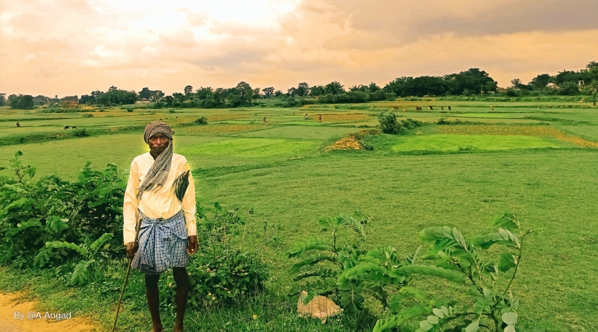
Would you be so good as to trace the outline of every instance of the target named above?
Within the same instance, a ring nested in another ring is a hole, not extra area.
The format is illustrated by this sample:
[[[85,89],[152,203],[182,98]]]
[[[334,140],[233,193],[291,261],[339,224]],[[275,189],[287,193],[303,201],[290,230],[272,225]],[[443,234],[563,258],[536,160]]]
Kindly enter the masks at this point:
[[[2,308],[0,310],[0,331],[2,332],[99,331],[99,328],[86,322],[86,319],[72,317],[72,314],[71,318],[66,316],[60,320],[44,318],[46,312],[38,303],[19,300],[16,294],[0,293],[0,308]],[[22,319],[15,318],[18,314],[22,315]],[[48,315],[52,314],[56,313],[48,312]],[[32,316],[33,319],[29,319],[28,316]]]

